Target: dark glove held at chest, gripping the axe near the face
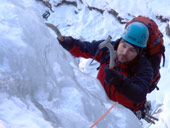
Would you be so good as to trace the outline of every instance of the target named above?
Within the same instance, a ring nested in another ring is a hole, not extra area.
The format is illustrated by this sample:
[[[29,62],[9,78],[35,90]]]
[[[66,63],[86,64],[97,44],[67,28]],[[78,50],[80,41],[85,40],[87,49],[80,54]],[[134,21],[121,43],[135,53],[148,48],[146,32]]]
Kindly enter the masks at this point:
[[[108,66],[104,68],[105,71],[105,82],[112,84],[115,87],[121,86],[123,82],[123,75],[116,70],[109,69]]]

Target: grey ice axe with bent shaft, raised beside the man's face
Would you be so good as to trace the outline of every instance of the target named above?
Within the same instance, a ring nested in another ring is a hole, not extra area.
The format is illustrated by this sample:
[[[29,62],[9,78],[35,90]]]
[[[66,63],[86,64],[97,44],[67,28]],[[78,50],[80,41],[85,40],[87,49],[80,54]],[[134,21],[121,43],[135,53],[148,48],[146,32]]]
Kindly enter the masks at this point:
[[[114,59],[115,59],[115,56],[116,56],[116,51],[114,50],[113,45],[110,43],[111,39],[112,39],[112,37],[109,35],[105,41],[103,41],[103,42],[101,42],[101,43],[99,44],[98,49],[97,49],[97,51],[96,51],[96,53],[95,53],[95,56],[93,57],[90,65],[92,64],[92,62],[94,61],[94,59],[97,57],[99,51],[100,51],[102,48],[107,47],[107,48],[109,49],[109,52],[110,52],[109,68],[110,68],[110,69],[113,69],[113,67],[114,67]]]

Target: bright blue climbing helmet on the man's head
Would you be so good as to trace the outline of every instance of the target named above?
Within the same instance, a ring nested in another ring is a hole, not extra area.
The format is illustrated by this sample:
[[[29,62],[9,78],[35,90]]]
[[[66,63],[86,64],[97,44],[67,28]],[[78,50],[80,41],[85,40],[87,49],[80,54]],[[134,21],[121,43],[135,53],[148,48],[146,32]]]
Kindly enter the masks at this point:
[[[146,47],[149,38],[148,28],[140,22],[129,24],[122,34],[122,38],[138,47]]]

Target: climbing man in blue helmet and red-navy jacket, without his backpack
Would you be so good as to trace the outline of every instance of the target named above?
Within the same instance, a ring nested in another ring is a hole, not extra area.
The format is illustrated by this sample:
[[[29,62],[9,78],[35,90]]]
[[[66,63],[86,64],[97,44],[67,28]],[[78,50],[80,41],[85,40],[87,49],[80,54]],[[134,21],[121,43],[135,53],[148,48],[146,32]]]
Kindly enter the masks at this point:
[[[137,111],[146,99],[153,78],[153,69],[143,53],[147,45],[147,27],[134,22],[125,29],[120,39],[111,42],[117,50],[113,70],[109,69],[109,51],[100,50],[96,61],[100,62],[97,78],[107,96],[120,104]],[[81,42],[72,37],[64,37],[60,44],[75,57],[93,58],[102,41]]]

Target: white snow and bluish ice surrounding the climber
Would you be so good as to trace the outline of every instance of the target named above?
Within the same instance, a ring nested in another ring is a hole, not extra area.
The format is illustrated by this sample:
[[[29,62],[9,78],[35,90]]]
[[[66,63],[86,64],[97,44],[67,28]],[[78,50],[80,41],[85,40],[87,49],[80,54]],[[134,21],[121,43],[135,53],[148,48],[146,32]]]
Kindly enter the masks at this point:
[[[119,16],[153,18],[164,34],[166,63],[161,68],[160,90],[148,95],[159,121],[141,122],[122,105],[116,105],[95,128],[167,128],[170,127],[170,39],[167,23],[155,16],[168,17],[169,0],[86,0],[55,7],[48,22],[58,25],[63,35],[82,40],[118,38],[124,25],[108,13],[115,9]],[[128,3],[128,7],[127,7]],[[87,7],[101,8],[101,14]],[[143,6],[141,6],[143,5]],[[159,6],[158,6],[159,5]],[[159,8],[155,8],[159,7]],[[113,104],[95,78],[97,62],[73,58],[48,29],[42,14],[49,10],[34,0],[6,0],[0,4],[0,128],[88,128]],[[77,13],[75,13],[77,12]],[[129,15],[130,14],[130,15]]]

